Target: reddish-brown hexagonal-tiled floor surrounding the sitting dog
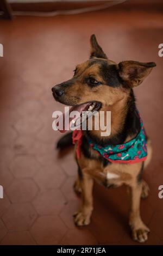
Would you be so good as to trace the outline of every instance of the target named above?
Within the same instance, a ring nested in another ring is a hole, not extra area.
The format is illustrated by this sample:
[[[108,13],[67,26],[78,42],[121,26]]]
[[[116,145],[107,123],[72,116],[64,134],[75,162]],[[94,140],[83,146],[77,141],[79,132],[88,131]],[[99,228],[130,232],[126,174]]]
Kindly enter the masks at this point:
[[[52,112],[63,109],[54,102],[51,87],[67,80],[74,66],[89,56],[92,33],[110,59],[156,62],[157,67],[135,89],[149,136],[153,161],[144,173],[151,188],[141,202],[143,220],[151,229],[146,244],[162,244],[162,43],[160,13],[100,11],[51,18],[17,17],[0,21],[0,242],[22,244],[137,244],[130,239],[126,188],[95,185],[92,222],[84,228],[73,224],[80,198],[72,185],[77,166],[72,151],[59,156],[52,130]]]

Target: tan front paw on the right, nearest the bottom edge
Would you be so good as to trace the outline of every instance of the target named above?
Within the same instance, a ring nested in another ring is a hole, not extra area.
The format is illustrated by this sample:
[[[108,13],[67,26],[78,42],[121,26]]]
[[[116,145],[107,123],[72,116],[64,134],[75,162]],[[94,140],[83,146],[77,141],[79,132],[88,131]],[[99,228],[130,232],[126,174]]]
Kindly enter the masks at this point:
[[[132,230],[132,237],[134,241],[143,243],[148,240],[148,233],[149,233],[149,228],[146,227],[146,225],[143,225],[143,227],[138,228],[138,229],[133,229]]]

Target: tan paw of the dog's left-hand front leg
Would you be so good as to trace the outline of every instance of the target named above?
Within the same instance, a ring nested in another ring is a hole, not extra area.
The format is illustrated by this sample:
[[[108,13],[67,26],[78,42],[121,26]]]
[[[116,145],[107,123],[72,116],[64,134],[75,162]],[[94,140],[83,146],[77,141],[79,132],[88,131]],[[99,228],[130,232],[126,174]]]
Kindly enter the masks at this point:
[[[77,226],[88,225],[90,224],[91,213],[84,214],[83,211],[77,211],[74,213],[73,218],[74,218],[74,223]]]

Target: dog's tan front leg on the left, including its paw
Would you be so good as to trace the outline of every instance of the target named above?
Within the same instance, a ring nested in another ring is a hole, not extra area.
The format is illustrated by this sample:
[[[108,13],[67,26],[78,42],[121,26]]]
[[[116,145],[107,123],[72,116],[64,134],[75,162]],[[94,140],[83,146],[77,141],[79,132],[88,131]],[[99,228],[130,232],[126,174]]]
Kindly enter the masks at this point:
[[[90,223],[93,210],[93,179],[86,173],[85,169],[82,170],[80,185],[82,188],[82,207],[73,215],[74,223],[78,226],[88,225]]]

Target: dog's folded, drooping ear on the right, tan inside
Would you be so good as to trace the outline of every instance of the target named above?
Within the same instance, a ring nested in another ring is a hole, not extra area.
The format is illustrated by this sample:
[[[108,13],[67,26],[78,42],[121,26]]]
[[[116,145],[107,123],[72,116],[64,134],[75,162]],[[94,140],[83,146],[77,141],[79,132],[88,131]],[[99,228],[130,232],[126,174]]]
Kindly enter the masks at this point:
[[[156,66],[154,62],[124,61],[118,64],[118,73],[126,86],[134,87],[142,83],[154,66]]]

